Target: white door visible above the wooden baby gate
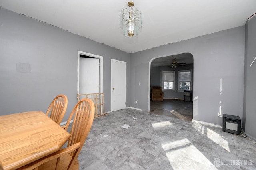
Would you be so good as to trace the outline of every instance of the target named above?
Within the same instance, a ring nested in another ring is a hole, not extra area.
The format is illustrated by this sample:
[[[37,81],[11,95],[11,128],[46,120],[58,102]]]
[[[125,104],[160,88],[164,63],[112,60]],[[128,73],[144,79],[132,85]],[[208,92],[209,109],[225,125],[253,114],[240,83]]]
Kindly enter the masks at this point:
[[[99,60],[80,57],[79,94],[99,93]]]

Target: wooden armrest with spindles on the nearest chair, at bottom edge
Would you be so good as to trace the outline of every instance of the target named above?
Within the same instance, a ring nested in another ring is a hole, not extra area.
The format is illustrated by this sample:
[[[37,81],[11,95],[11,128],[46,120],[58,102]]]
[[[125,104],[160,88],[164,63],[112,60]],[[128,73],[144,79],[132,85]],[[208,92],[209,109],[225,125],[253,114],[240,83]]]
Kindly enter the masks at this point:
[[[18,168],[18,170],[72,170],[80,143],[63,148],[44,158]],[[71,155],[71,156],[70,156]]]

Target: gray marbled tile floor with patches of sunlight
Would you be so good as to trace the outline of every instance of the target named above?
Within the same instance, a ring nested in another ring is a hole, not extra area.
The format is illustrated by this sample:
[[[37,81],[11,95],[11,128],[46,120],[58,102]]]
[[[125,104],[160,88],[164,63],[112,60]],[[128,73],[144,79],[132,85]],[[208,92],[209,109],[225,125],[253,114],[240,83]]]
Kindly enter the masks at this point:
[[[94,118],[81,170],[256,169],[256,144],[222,128],[123,109]]]

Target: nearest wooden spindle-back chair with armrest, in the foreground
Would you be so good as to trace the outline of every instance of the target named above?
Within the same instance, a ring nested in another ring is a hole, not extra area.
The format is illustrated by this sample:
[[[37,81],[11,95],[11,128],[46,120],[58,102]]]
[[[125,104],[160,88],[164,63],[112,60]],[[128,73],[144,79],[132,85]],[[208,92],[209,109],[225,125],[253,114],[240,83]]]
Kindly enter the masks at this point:
[[[67,148],[23,166],[20,170],[33,170],[36,169],[36,167],[38,167],[39,170],[78,170],[79,162],[77,158],[92,126],[94,111],[95,107],[91,99],[83,98],[78,101],[72,109],[66,126],[64,127],[65,130],[67,130],[70,121],[73,119],[70,130],[71,136],[68,140]],[[79,144],[80,147],[76,148],[77,144]],[[74,148],[76,148],[76,150],[74,150]],[[59,161],[56,159],[58,157],[61,157]]]

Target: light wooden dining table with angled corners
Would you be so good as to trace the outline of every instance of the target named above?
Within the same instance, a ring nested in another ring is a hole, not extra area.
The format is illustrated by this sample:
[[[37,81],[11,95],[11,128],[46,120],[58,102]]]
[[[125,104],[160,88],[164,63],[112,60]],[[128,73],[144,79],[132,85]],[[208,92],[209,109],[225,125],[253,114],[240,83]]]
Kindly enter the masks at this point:
[[[54,153],[70,138],[42,111],[0,116],[0,161],[14,170]]]

